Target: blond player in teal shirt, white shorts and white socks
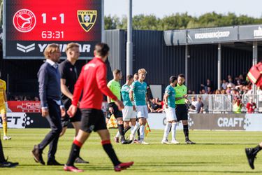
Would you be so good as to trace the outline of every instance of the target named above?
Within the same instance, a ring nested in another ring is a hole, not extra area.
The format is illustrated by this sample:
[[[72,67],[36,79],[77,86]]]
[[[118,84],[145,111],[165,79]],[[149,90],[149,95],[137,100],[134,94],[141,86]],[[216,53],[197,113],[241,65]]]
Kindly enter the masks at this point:
[[[147,83],[144,82],[147,71],[145,69],[138,70],[138,81],[133,82],[129,96],[133,105],[133,110],[138,113],[138,124],[131,132],[130,139],[133,140],[135,133],[140,128],[140,144],[149,144],[144,141],[145,136],[145,124],[148,118],[147,109]]]

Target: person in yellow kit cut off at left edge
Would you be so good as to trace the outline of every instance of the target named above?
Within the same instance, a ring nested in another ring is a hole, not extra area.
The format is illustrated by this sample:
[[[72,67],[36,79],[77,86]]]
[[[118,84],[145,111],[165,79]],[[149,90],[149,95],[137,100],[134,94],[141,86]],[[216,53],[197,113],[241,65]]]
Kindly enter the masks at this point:
[[[6,82],[0,79],[0,113],[3,125],[3,140],[10,140],[11,137],[7,136],[7,117],[6,111],[8,108],[6,97]]]

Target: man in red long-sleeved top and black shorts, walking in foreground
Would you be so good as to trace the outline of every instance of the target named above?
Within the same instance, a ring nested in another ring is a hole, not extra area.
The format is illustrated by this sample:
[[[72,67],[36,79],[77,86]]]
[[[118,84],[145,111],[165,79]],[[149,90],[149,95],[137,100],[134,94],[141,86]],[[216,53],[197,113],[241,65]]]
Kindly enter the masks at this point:
[[[83,172],[74,166],[75,158],[77,158],[80,148],[88,139],[92,131],[97,132],[101,137],[101,144],[105,153],[112,161],[115,171],[120,172],[123,169],[129,168],[133,162],[122,163],[118,160],[112,144],[110,143],[110,134],[105,124],[105,117],[101,110],[103,102],[103,94],[115,100],[115,104],[119,110],[124,109],[124,105],[107,87],[106,83],[106,65],[105,60],[108,58],[109,47],[105,43],[98,43],[94,50],[94,59],[82,67],[80,76],[75,83],[73,92],[72,105],[69,107],[68,116],[74,116],[78,109],[79,99],[82,93],[80,109],[82,112],[81,127],[78,135],[73,141],[71,153],[68,162],[64,166],[65,171]]]

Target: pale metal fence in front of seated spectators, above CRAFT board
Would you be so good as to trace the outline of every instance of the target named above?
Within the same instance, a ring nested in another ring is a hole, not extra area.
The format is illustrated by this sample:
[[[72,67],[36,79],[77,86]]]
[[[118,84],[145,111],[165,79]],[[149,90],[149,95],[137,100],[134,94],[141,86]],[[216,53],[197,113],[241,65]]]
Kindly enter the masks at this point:
[[[205,113],[233,113],[233,99],[235,98],[233,94],[189,94],[189,101],[191,98],[201,97],[204,104],[203,111]],[[246,113],[246,105],[249,99],[252,98],[253,102],[256,104],[255,113],[262,112],[262,94],[244,94],[241,97],[242,102],[242,113]]]

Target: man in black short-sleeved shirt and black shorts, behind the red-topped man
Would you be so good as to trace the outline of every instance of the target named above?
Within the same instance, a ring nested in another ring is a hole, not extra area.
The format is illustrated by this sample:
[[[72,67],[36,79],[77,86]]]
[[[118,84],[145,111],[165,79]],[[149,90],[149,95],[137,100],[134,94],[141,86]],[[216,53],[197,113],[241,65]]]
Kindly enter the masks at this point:
[[[80,56],[79,45],[78,43],[68,43],[66,46],[66,56],[67,59],[64,62],[59,64],[59,71],[61,74],[61,100],[65,106],[66,111],[71,106],[72,98],[73,98],[73,90],[78,80],[78,72],[75,67],[75,62],[78,60]],[[61,118],[62,122],[62,132],[60,137],[64,135],[66,129],[68,127],[68,123],[72,123],[73,127],[75,128],[75,136],[78,135],[78,131],[80,130],[80,121],[81,121],[81,111],[75,113],[75,116],[69,118],[68,114],[64,118]],[[75,159],[75,163],[89,163],[78,155],[78,158]]]

